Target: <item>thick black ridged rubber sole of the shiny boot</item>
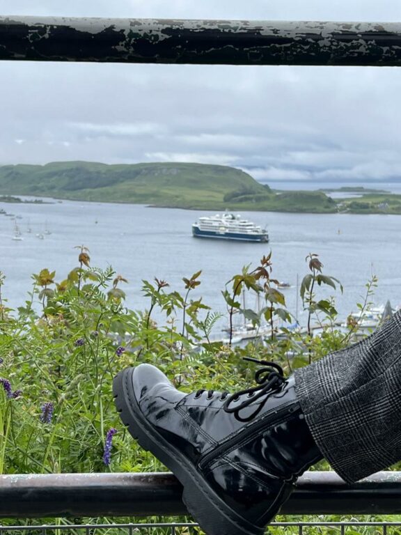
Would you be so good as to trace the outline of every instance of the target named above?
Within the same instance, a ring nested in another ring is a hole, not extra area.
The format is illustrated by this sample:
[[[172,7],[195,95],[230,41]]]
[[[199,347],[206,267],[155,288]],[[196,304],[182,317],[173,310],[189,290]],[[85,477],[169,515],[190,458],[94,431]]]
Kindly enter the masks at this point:
[[[113,380],[113,396],[123,424],[140,446],[157,457],[182,484],[182,501],[207,535],[263,535],[265,529],[247,522],[228,507],[182,453],[143,417],[132,391],[133,368]]]

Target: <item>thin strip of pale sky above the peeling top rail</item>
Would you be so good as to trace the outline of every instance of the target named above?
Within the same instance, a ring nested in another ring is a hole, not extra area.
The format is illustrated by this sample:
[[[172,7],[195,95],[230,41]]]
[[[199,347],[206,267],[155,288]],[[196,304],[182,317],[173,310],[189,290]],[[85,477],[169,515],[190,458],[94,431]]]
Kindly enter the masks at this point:
[[[3,15],[219,18],[252,20],[400,20],[394,0],[3,0]]]

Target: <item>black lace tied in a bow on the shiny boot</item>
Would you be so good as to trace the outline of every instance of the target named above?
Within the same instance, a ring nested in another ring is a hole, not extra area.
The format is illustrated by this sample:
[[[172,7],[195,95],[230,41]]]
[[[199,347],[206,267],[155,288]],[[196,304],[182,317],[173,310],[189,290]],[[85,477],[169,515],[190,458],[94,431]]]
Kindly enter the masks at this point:
[[[231,395],[228,391],[224,391],[221,394],[220,398],[221,401],[225,400],[225,403],[223,405],[223,410],[225,412],[235,414],[235,417],[240,421],[250,421],[262,410],[267,399],[269,398],[269,394],[272,394],[274,391],[278,390],[281,385],[283,385],[283,383],[285,382],[285,378],[283,375],[283,369],[275,362],[253,359],[251,357],[244,357],[244,360],[248,360],[249,362],[256,362],[257,364],[262,364],[263,366],[265,366],[264,368],[260,368],[260,370],[256,371],[255,373],[255,381],[258,383],[258,386],[246,388]],[[205,389],[199,389],[196,392],[195,397],[198,398],[205,391]],[[248,394],[248,397],[244,399],[244,401],[242,401],[241,403],[239,403],[239,405],[235,407],[230,406],[239,399],[239,396],[244,396],[244,394]],[[212,399],[213,395],[214,390],[207,391],[207,399]],[[262,398],[263,396],[265,396],[265,400],[260,403],[257,408],[255,408],[252,414],[247,417],[241,417],[239,415],[240,410],[249,407],[249,405],[252,405],[253,403],[255,403],[255,401]]]

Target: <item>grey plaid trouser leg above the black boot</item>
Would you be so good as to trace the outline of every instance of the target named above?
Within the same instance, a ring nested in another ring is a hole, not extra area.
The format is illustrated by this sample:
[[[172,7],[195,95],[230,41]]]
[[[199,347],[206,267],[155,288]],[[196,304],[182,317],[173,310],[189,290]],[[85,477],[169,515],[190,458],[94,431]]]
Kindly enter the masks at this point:
[[[295,371],[295,385],[317,446],[347,483],[401,460],[401,311]]]

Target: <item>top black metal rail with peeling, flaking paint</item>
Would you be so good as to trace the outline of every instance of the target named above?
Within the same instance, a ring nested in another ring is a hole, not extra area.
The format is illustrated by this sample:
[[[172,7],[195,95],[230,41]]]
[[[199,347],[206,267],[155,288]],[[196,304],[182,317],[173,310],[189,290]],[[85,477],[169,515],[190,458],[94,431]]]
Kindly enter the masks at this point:
[[[0,59],[401,65],[401,23],[0,17]]]

